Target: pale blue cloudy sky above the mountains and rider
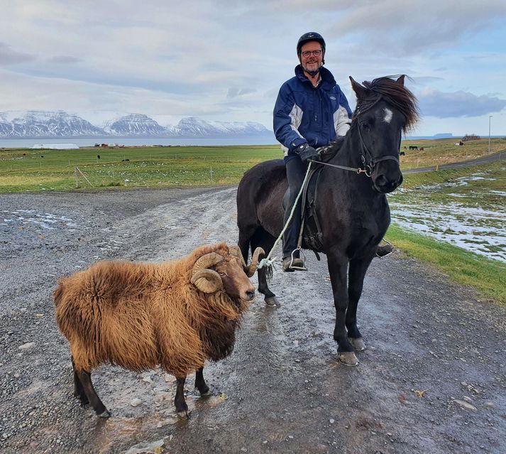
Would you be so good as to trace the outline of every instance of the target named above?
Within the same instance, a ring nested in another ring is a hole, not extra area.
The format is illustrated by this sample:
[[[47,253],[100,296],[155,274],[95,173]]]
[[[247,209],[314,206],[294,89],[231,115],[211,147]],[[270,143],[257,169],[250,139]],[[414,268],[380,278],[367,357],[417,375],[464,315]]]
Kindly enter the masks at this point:
[[[504,0],[1,0],[0,112],[259,121],[306,31],[352,108],[358,81],[405,73],[414,135],[506,134]],[[86,118],[86,117],[85,117]]]

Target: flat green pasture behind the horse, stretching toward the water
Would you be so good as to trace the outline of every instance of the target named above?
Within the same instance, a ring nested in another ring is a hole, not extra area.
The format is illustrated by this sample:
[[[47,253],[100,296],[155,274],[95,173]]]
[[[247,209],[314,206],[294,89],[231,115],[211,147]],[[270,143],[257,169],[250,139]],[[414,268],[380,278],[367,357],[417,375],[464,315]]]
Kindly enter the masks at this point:
[[[488,140],[455,146],[456,139],[403,141],[424,151],[406,151],[403,169],[465,161],[488,153]],[[505,139],[493,139],[490,151],[506,148]],[[97,158],[100,156],[100,159]],[[43,157],[42,157],[43,156]],[[0,193],[75,190],[89,188],[160,188],[238,183],[256,163],[282,158],[277,145],[163,146],[81,148],[78,150],[0,150]],[[127,161],[128,160],[128,161]],[[89,183],[75,167],[89,180]],[[76,178],[77,175],[77,178]]]

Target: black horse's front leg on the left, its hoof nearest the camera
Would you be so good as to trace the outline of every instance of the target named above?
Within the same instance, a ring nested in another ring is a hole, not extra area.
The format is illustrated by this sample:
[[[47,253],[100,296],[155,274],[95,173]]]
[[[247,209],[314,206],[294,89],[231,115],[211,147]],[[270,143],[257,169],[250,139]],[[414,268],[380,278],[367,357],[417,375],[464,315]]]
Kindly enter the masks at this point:
[[[348,271],[348,259],[342,254],[330,252],[327,254],[329,274],[334,292],[334,306],[336,307],[336,326],[334,328],[334,340],[337,342],[337,357],[347,366],[356,366],[357,357],[355,349],[346,335],[346,310],[348,309],[348,288],[346,275]]]

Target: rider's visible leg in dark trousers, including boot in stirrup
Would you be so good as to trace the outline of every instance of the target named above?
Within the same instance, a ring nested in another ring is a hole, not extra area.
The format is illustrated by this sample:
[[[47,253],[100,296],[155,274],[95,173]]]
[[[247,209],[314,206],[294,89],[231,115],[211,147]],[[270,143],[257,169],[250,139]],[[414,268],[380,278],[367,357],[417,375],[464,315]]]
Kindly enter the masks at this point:
[[[285,196],[287,199],[285,200],[286,207],[283,225],[286,225],[290,219],[292,207],[297,199],[297,195],[299,194],[306,172],[306,166],[304,166],[304,163],[302,163],[299,156],[285,161],[285,165],[287,168],[288,190],[287,195]],[[287,272],[296,270],[306,271],[304,261],[299,258],[299,251],[296,250],[301,227],[300,210],[301,200],[299,199],[297,207],[292,215],[292,220],[290,220],[290,225],[288,225],[285,233],[283,234],[283,271]]]

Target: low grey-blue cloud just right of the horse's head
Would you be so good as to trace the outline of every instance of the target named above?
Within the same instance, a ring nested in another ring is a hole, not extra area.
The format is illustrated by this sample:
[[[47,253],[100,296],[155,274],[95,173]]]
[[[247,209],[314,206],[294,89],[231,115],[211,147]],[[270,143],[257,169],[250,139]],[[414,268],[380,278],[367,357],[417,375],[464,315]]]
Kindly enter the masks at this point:
[[[506,107],[506,99],[485,94],[476,96],[469,92],[439,92],[427,90],[418,97],[422,115],[437,118],[480,117],[500,112]]]

